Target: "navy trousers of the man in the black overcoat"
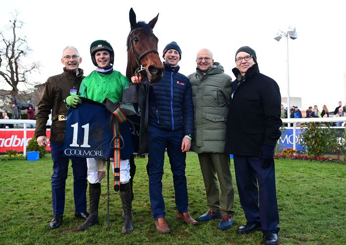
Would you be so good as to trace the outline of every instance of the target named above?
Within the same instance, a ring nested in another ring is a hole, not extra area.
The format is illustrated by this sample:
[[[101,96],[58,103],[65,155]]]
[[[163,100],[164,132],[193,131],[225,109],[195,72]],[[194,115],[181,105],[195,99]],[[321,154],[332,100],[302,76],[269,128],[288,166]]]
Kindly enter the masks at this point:
[[[234,155],[240,204],[248,222],[260,222],[261,231],[278,233],[275,166],[263,169],[258,157]]]

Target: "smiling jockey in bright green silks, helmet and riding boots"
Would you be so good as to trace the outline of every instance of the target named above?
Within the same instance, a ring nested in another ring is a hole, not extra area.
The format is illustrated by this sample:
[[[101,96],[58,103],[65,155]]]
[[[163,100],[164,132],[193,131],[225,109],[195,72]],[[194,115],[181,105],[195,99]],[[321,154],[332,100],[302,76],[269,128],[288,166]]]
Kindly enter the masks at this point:
[[[90,55],[92,63],[97,67],[85,79],[83,79],[79,96],[92,99],[102,103],[108,98],[113,103],[122,101],[123,90],[128,87],[130,81],[120,72],[113,69],[114,50],[112,46],[104,40],[97,40],[90,46]],[[76,107],[82,103],[78,96],[71,95],[66,98],[66,103]],[[130,135],[124,131],[130,132],[129,122],[124,122],[120,126],[121,133]],[[120,197],[124,208],[124,226],[123,234],[133,231],[132,226],[132,201],[130,188],[130,155],[133,153],[131,138],[124,138],[125,147],[120,152]],[[112,158],[111,158],[112,159]],[[113,172],[114,168],[112,167]],[[90,215],[88,219],[81,224],[77,230],[83,231],[88,227],[98,223],[98,204],[101,194],[101,181],[105,176],[105,159],[87,158],[87,180],[89,181],[89,205]]]

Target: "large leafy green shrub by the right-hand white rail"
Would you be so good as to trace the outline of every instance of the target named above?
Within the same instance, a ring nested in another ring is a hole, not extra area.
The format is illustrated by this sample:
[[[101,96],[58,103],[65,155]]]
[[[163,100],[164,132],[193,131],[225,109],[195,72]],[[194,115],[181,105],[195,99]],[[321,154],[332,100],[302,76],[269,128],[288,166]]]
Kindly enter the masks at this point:
[[[326,151],[335,152],[338,149],[336,131],[329,124],[303,123],[301,126],[303,146],[312,157],[323,156]]]

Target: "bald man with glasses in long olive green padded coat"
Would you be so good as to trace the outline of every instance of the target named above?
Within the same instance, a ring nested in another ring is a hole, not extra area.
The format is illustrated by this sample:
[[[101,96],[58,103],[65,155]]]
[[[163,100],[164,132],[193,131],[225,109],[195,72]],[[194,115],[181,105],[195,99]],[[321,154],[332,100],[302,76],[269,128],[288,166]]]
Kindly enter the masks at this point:
[[[209,206],[208,212],[198,220],[221,218],[218,229],[227,230],[233,226],[234,215],[230,157],[224,153],[232,80],[223,73],[223,67],[214,62],[209,49],[201,49],[196,62],[196,72],[188,76],[195,117],[191,149],[198,153]]]

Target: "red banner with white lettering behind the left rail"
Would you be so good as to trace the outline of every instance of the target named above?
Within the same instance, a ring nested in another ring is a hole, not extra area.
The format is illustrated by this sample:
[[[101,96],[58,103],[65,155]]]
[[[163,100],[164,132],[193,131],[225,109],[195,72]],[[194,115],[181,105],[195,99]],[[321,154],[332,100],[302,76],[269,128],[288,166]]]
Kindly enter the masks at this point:
[[[27,129],[26,145],[34,136],[35,129]],[[50,136],[50,130],[46,131],[47,138]],[[7,149],[23,151],[24,146],[24,129],[0,129],[0,152],[5,152]],[[47,150],[50,150],[49,141]]]

